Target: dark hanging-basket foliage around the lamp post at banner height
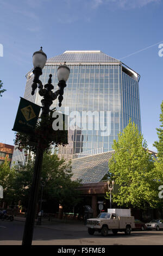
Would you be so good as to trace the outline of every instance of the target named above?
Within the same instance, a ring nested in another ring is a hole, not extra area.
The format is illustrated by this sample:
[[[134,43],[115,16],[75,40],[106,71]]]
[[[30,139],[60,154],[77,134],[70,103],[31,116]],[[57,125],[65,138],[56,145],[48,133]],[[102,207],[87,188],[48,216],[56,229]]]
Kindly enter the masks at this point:
[[[16,149],[20,151],[24,149],[25,152],[29,150],[36,153],[39,144],[39,147],[48,152],[52,149],[52,146],[57,148],[58,145],[64,146],[68,144],[66,130],[53,130],[52,123],[54,118],[52,118],[52,115],[52,111],[47,116],[42,115],[38,119],[36,128],[32,134],[27,135],[26,133],[17,132],[14,140]]]

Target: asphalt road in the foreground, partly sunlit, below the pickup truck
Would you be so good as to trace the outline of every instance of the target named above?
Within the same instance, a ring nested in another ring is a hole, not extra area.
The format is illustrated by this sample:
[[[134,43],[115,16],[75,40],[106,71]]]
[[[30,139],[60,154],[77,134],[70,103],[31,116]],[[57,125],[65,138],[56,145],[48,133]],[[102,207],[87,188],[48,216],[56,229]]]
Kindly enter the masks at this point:
[[[24,223],[0,221],[0,245],[21,245]],[[133,231],[130,236],[124,233],[103,237],[87,230],[60,230],[59,228],[34,228],[33,245],[163,245],[163,230]]]

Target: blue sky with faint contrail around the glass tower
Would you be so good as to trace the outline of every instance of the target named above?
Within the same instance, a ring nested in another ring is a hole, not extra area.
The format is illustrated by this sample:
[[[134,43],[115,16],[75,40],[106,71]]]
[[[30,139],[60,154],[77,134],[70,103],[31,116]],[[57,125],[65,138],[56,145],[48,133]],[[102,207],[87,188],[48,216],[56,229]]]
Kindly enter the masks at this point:
[[[162,0],[0,0],[0,142],[14,125],[33,53],[101,50],[140,74],[142,134],[156,151],[163,100]],[[161,50],[162,49],[162,50]]]

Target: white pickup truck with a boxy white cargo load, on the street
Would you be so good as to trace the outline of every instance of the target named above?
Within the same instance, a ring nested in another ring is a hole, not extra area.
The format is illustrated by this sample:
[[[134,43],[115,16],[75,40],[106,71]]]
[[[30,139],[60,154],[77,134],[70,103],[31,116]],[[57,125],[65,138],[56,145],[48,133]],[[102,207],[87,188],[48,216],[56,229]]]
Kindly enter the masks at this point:
[[[115,235],[118,231],[124,231],[126,235],[130,235],[131,229],[135,228],[135,221],[130,214],[130,209],[108,209],[108,212],[102,212],[97,218],[88,219],[86,227],[90,235],[98,231],[106,236],[108,230],[112,230]]]

